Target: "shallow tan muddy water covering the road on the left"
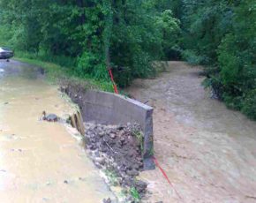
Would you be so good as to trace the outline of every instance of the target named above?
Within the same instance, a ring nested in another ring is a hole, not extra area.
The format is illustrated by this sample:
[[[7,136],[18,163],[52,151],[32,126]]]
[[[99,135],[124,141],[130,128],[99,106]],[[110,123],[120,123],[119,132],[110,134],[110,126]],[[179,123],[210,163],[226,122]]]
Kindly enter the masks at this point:
[[[39,121],[73,107],[34,67],[0,62],[0,202],[86,202],[113,198],[77,132]]]

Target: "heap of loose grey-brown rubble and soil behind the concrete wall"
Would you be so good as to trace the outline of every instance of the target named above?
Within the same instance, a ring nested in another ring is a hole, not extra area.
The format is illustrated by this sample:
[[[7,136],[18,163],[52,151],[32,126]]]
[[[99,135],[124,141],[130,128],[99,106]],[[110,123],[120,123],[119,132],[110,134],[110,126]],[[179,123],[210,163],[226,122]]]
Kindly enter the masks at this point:
[[[143,169],[139,125],[85,124],[85,127],[87,154],[108,177],[108,184],[124,189],[125,203],[138,202],[131,190],[138,192],[140,198],[147,192],[147,184],[136,178]]]

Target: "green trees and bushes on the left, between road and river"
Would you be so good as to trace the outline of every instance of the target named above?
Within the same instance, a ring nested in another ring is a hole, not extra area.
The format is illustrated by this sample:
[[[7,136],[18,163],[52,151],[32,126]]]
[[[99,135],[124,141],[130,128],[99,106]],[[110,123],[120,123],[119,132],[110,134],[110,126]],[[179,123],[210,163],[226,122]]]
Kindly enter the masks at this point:
[[[152,0],[0,0],[0,43],[70,66],[80,77],[106,80],[112,67],[117,84],[128,86],[134,78],[154,76],[152,61],[163,58],[162,49],[177,51],[179,22],[156,5]]]

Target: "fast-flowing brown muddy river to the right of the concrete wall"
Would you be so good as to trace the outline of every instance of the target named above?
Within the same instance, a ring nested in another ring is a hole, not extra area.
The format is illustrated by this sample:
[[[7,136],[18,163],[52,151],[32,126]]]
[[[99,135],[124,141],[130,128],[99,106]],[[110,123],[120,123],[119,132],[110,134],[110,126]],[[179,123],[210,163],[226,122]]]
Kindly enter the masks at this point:
[[[154,107],[154,151],[159,169],[142,173],[145,202],[256,202],[256,122],[210,99],[200,67],[169,62],[156,79],[127,89]]]

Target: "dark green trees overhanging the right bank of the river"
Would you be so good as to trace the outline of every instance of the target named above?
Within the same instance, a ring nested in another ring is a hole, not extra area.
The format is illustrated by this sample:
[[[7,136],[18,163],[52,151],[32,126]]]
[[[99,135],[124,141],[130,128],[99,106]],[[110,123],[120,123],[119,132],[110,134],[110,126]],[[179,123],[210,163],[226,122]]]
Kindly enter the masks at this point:
[[[255,119],[255,1],[182,2],[184,59],[207,64],[204,84],[229,108]]]

